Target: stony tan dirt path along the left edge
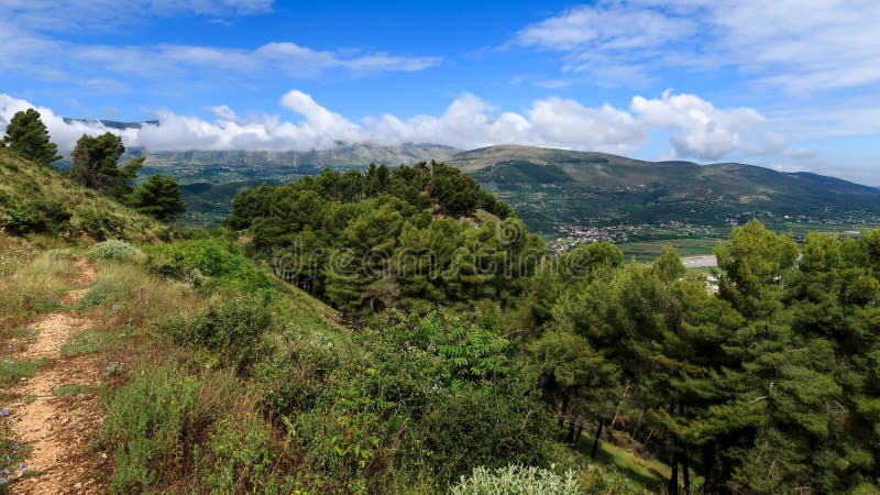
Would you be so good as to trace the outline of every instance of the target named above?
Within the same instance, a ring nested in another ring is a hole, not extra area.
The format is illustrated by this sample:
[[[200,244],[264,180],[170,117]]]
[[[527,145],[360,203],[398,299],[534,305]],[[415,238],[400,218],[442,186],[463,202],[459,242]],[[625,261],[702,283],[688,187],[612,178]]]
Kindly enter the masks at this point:
[[[95,267],[84,260],[77,261],[76,265],[80,271],[77,285],[94,284]],[[75,305],[88,292],[89,288],[72,290],[62,302]],[[43,315],[29,327],[33,336],[13,356],[20,361],[45,361],[33,377],[23,378],[11,391],[20,399],[9,408],[9,419],[16,441],[31,448],[26,469],[33,473],[10,484],[13,494],[92,494],[103,491],[91,476],[97,455],[91,450],[91,440],[103,419],[95,389],[101,381],[105,363],[88,354],[61,355],[61,348],[68,339],[94,323],[75,311]],[[88,387],[89,392],[53,395],[53,391],[66,385]]]

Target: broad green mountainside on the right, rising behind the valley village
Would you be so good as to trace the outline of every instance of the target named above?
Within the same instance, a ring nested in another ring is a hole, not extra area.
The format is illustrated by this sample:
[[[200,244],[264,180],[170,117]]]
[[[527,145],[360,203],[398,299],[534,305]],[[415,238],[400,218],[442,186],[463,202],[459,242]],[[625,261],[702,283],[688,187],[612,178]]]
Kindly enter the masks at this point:
[[[740,216],[859,221],[880,215],[876,188],[737,163],[645,162],[510,145],[459,153],[447,163],[544,232],[563,223],[724,223]]]

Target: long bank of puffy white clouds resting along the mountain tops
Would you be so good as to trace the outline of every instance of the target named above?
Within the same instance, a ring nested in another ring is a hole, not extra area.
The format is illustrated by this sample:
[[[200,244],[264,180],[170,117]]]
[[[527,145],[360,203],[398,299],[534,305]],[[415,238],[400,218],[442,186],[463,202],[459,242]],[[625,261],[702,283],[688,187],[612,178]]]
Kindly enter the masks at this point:
[[[172,111],[156,112],[157,125],[108,129],[100,122],[65,122],[51,109],[36,107],[52,139],[70,150],[84,133],[113,132],[127,146],[168,150],[328,150],[339,143],[447,144],[462,148],[525,144],[627,154],[659,132],[671,133],[675,156],[718,160],[725,156],[772,156],[788,153],[788,141],[768,132],[766,119],[748,108],[718,109],[693,95],[667,91],[660,98],[632,98],[627,109],[585,107],[571,99],[535,100],[521,112],[499,111],[470,94],[457,98],[439,116],[398,118],[388,113],[360,122],[333,112],[299,90],[279,100],[296,121],[277,116],[239,117],[228,106],[208,108],[213,121]],[[0,128],[32,103],[0,95]]]

